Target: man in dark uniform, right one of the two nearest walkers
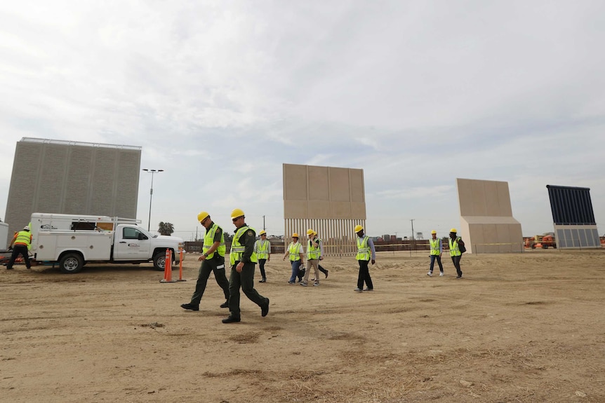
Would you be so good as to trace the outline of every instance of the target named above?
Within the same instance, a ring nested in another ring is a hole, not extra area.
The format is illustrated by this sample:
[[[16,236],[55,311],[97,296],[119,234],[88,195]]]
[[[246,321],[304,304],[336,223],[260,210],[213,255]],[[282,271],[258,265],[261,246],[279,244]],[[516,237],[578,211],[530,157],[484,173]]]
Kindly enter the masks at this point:
[[[248,299],[260,306],[260,315],[267,316],[269,313],[269,299],[258,294],[254,289],[254,266],[258,259],[254,252],[256,233],[250,228],[246,221],[244,212],[239,208],[231,212],[231,220],[236,231],[229,252],[231,263],[231,276],[229,278],[229,310],[230,315],[222,320],[223,323],[239,322],[241,313],[239,310],[239,289],[246,294]]]

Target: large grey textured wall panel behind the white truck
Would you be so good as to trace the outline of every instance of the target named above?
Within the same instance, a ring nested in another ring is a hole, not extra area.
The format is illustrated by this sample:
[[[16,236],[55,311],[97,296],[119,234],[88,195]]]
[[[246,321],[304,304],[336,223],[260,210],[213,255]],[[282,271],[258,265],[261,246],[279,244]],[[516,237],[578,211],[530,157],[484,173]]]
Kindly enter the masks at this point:
[[[33,212],[136,218],[140,146],[23,138],[17,142],[5,221]]]

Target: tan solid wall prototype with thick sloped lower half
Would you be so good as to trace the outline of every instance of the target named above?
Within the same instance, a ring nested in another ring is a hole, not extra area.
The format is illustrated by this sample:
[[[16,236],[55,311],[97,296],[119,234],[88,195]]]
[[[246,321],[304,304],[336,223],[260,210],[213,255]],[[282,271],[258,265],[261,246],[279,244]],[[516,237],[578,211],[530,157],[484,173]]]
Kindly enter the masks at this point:
[[[523,252],[521,224],[512,217],[508,182],[456,179],[460,228],[469,253]]]

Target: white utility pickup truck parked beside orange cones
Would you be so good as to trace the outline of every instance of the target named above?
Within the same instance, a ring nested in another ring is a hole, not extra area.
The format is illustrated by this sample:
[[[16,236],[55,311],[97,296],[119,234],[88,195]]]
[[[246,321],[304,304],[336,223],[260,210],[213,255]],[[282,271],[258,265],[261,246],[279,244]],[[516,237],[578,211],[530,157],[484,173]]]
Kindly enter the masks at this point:
[[[78,273],[88,262],[147,263],[164,270],[166,250],[180,259],[182,239],[152,235],[139,220],[78,214],[32,214],[32,248],[36,261],[58,263],[62,273]]]

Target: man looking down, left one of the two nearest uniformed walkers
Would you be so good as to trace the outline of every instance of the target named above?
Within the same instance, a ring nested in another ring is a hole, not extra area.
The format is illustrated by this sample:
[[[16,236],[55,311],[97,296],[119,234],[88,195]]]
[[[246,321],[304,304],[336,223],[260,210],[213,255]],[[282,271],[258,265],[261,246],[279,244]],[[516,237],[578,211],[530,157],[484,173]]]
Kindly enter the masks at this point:
[[[201,296],[204,295],[211,272],[214,272],[214,279],[225,294],[226,301],[220,307],[227,308],[229,306],[229,281],[227,281],[225,275],[225,235],[222,228],[212,221],[210,214],[207,212],[203,211],[197,214],[197,219],[206,228],[204,246],[202,247],[203,254],[198,259],[201,261],[201,266],[199,266],[199,274],[197,275],[197,283],[191,302],[183,303],[181,308],[199,310],[199,302]]]

